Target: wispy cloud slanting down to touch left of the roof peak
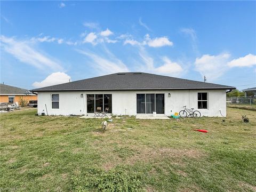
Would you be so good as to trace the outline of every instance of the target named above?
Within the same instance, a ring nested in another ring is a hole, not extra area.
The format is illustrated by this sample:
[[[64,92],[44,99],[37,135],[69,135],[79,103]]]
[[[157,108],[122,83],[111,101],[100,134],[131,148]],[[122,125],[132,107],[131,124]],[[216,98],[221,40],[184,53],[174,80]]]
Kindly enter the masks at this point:
[[[93,63],[91,63],[91,66],[97,69],[98,71],[100,71],[101,74],[110,74],[110,73],[129,71],[126,65],[119,59],[112,58],[110,60],[111,57],[103,58],[102,56],[91,53],[91,52],[86,52],[82,50],[77,50],[77,51],[89,57],[93,61]]]

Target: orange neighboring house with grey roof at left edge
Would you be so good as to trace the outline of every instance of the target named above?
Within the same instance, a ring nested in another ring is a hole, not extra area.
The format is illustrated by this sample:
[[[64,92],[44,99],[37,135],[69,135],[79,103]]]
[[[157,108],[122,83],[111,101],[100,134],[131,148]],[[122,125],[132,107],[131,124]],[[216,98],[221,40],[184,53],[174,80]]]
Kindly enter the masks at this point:
[[[20,105],[21,97],[25,98],[28,102],[30,100],[37,100],[37,95],[30,93],[26,89],[0,84],[0,102],[8,102],[10,104],[18,102]]]

